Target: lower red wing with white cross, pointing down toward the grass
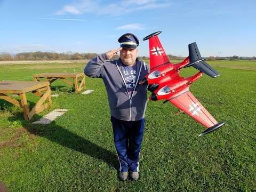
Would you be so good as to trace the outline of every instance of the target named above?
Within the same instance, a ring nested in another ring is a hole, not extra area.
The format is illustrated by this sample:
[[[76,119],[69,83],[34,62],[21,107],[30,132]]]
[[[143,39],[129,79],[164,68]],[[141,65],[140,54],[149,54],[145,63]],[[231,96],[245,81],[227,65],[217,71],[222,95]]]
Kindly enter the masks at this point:
[[[190,91],[170,99],[170,102],[207,128],[218,124]]]

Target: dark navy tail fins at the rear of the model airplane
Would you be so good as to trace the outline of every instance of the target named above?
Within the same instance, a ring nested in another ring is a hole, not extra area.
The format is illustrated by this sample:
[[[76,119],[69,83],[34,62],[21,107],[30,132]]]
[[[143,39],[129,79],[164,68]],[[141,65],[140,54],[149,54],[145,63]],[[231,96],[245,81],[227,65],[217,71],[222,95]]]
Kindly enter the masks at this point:
[[[193,66],[194,68],[202,71],[204,74],[209,75],[210,77],[220,76],[220,73],[217,70],[213,69],[209,64],[204,61],[206,58],[201,57],[196,42],[188,45],[188,52],[189,63],[185,67]]]

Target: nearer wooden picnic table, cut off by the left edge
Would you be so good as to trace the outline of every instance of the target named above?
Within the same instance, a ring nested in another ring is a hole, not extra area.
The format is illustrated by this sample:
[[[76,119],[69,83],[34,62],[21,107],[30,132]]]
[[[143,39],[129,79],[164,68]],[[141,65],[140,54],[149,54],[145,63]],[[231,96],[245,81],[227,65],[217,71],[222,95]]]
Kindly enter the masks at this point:
[[[31,110],[29,110],[26,97],[26,93],[29,92],[41,97]],[[14,98],[11,98],[7,94],[18,94],[20,97],[20,102]],[[0,82],[0,98],[3,98],[15,106],[23,108],[23,116],[26,121],[29,121],[35,114],[40,113],[52,105],[49,82],[3,81]],[[44,101],[46,101],[45,104],[43,104]]]

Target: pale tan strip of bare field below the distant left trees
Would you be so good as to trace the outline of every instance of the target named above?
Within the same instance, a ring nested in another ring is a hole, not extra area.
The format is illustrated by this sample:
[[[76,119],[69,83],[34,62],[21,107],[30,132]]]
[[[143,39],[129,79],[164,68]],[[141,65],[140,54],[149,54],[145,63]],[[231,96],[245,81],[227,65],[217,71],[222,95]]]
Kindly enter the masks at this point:
[[[31,63],[87,63],[90,60],[44,60],[44,61],[0,61],[0,65],[31,64]]]

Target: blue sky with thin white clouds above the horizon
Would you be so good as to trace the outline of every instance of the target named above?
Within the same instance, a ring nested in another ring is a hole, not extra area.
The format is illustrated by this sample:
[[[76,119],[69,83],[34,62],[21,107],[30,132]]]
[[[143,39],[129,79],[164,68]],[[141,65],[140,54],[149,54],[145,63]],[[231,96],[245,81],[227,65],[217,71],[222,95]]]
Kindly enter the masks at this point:
[[[158,35],[167,54],[188,55],[196,42],[202,57],[256,56],[256,1],[0,0],[0,52],[103,53],[133,33],[138,55]]]

